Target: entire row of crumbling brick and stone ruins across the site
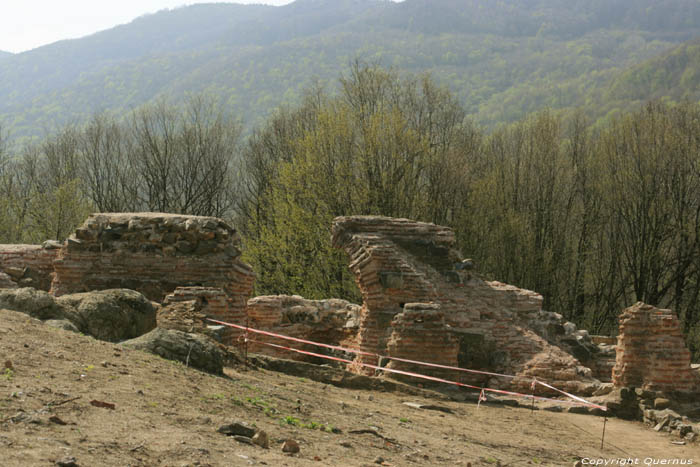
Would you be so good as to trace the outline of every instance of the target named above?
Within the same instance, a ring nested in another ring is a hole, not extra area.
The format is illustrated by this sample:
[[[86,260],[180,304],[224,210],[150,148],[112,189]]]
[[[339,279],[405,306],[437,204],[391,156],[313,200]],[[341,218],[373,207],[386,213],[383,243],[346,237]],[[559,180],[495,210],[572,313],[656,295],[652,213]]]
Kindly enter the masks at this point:
[[[30,314],[60,320],[75,318],[82,308],[88,316],[92,308],[85,303],[100,298],[85,301],[75,294],[120,289],[114,291],[119,297],[140,292],[158,302],[157,325],[172,331],[167,336],[206,334],[223,344],[241,345],[241,331],[212,325],[207,318],[248,324],[371,355],[252,333],[250,352],[325,363],[265,342],[333,354],[354,359],[349,369],[357,373],[381,373],[362,366],[368,363],[528,393],[533,378],[583,395],[611,379],[617,386],[659,392],[700,390],[678,319],[670,310],[643,304],[628,308],[615,346],[609,338],[589,336],[561,315],[543,311],[536,292],[480,278],[471,261],[455,250],[455,234],[447,227],[353,216],[335,219],[332,232],[334,245],[350,258],[362,306],[299,296],[251,299],[255,276],[240,259],[232,227],[213,217],[160,213],[94,214],[63,244],[0,245],[0,289],[17,289],[4,292],[2,303],[16,308],[36,295]],[[50,290],[52,295],[32,295],[32,289],[19,287]],[[100,309],[116,303],[121,302],[115,299]],[[62,325],[92,334],[83,321]],[[430,368],[377,355],[515,377]],[[546,392],[538,387],[539,394]]]

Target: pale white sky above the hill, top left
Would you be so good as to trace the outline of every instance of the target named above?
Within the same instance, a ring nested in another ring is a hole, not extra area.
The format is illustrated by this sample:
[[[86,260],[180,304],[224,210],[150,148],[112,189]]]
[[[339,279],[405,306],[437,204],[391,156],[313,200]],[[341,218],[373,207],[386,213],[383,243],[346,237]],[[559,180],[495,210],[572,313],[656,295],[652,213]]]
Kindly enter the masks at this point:
[[[216,0],[0,0],[0,50],[23,52],[61,39],[86,36],[146,13]],[[292,0],[221,3],[285,5]]]

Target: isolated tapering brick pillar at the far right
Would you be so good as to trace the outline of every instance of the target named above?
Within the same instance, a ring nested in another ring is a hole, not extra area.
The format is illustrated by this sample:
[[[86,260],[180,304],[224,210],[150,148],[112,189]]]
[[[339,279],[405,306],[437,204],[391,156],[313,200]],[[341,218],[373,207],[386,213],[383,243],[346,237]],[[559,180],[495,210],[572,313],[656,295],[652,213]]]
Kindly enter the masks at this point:
[[[673,311],[638,302],[622,312],[612,378],[615,386],[663,393],[700,390]]]

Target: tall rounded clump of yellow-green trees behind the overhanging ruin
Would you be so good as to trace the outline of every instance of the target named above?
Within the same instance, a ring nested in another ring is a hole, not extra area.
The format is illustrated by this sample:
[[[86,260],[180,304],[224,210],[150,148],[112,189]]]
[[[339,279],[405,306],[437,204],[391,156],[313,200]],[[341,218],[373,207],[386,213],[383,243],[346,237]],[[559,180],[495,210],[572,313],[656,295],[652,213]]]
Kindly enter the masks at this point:
[[[251,188],[239,224],[245,259],[260,271],[257,293],[358,300],[347,258],[330,242],[333,218],[437,222],[456,207],[475,132],[449,92],[361,63],[341,86],[278,116],[243,154]]]

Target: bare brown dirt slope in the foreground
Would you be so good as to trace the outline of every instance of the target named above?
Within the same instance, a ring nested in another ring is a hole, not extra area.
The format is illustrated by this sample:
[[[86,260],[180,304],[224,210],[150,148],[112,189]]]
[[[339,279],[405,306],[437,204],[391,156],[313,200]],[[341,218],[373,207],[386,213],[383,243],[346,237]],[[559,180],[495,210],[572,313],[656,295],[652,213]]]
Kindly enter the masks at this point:
[[[434,400],[266,370],[216,377],[0,311],[0,369],[5,362],[12,370],[0,372],[2,466],[70,457],[79,466],[700,463],[697,443],[674,445],[641,423],[609,420],[600,449],[599,417],[438,401],[450,414],[403,404]],[[270,449],[217,432],[234,420],[265,430]],[[358,430],[366,432],[351,433]],[[287,438],[299,443],[298,454],[282,452]]]

